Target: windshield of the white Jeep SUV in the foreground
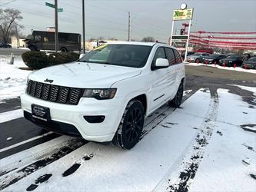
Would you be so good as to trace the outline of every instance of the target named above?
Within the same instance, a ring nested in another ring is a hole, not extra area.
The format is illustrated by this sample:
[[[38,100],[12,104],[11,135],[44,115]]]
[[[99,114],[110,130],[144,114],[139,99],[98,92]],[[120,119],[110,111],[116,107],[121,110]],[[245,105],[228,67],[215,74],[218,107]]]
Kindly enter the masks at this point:
[[[101,45],[78,61],[142,68],[148,60],[151,48],[145,45]]]

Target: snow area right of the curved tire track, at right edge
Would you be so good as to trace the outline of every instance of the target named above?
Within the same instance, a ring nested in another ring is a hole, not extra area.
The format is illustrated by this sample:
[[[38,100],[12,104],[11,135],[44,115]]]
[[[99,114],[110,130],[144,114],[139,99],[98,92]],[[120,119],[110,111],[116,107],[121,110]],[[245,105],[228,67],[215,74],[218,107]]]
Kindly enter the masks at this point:
[[[254,92],[255,93],[255,92]],[[256,191],[256,111],[241,97],[218,89],[218,119],[190,191]]]

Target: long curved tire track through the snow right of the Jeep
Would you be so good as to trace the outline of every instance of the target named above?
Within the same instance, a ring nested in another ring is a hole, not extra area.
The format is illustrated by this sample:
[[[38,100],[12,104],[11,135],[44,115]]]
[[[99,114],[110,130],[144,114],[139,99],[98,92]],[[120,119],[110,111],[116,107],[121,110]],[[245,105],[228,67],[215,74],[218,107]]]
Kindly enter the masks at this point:
[[[208,108],[208,113],[204,118],[204,123],[201,124],[201,129],[198,130],[198,134],[194,138],[194,144],[192,144],[191,153],[183,158],[181,167],[178,169],[179,174],[175,174],[175,176],[172,176],[171,178],[170,175],[173,169],[169,170],[168,177],[165,177],[164,180],[158,184],[155,190],[163,187],[161,184],[164,184],[165,190],[167,191],[188,191],[191,180],[193,180],[195,177],[201,160],[204,157],[204,150],[208,145],[208,141],[211,139],[211,134],[214,131],[214,124],[218,116],[218,93],[216,89],[210,89],[210,91],[211,101]]]

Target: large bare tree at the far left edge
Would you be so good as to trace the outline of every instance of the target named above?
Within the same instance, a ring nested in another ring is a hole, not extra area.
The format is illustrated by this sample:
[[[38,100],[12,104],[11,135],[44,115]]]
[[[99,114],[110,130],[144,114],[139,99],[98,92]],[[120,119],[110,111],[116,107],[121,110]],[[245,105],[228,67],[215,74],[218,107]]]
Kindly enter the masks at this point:
[[[18,21],[22,20],[21,12],[13,8],[0,8],[0,37],[4,43],[8,43],[11,35],[17,36],[18,28],[23,28],[18,25]]]

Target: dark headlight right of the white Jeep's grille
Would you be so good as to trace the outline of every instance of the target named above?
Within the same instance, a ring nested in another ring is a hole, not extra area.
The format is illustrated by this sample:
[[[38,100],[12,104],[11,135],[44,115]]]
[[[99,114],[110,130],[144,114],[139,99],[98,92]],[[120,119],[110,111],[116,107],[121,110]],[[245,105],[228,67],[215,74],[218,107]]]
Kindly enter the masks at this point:
[[[87,88],[84,91],[83,98],[96,98],[96,99],[110,99],[114,98],[115,93],[117,89],[116,88]]]

